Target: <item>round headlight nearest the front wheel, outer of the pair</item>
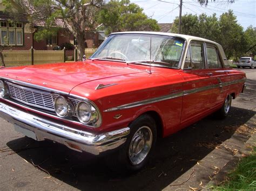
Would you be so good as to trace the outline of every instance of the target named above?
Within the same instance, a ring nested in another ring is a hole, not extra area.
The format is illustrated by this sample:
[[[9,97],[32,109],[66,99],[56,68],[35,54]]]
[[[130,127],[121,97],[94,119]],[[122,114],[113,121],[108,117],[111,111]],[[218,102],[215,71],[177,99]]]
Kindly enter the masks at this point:
[[[99,113],[92,104],[82,101],[77,104],[77,118],[85,124],[95,123],[99,119]]]

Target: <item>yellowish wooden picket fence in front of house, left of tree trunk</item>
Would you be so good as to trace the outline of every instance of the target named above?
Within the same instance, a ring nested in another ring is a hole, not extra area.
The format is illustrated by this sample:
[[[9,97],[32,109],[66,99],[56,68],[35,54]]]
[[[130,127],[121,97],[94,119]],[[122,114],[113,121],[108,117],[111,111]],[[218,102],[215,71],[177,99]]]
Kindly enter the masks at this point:
[[[5,67],[40,65],[44,63],[65,62],[65,49],[61,51],[42,50],[4,50]],[[3,66],[2,60],[0,64]]]

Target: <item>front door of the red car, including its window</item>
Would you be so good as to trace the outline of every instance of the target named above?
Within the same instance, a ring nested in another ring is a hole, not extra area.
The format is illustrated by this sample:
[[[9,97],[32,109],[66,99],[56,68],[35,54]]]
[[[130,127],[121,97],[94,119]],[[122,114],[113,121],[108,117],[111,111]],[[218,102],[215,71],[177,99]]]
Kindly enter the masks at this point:
[[[197,121],[211,109],[211,95],[214,85],[211,74],[206,69],[206,54],[203,41],[191,41],[183,75],[184,95],[181,111],[181,124]]]

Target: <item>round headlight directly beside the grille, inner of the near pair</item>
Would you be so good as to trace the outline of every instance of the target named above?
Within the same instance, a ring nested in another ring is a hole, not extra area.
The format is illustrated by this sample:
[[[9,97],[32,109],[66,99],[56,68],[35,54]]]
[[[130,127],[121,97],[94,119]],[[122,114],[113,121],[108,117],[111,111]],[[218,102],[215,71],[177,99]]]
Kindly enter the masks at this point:
[[[75,113],[73,103],[63,96],[58,96],[54,103],[55,112],[59,117],[71,117]]]

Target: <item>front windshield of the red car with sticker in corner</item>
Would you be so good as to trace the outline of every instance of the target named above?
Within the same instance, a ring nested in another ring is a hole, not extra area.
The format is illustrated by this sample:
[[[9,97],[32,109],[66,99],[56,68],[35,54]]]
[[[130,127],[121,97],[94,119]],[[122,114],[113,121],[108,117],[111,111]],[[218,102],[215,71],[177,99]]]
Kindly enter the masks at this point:
[[[155,34],[113,34],[91,56],[91,59],[123,60],[125,62],[178,68],[184,40]],[[151,51],[150,51],[151,50]]]

